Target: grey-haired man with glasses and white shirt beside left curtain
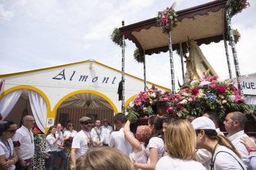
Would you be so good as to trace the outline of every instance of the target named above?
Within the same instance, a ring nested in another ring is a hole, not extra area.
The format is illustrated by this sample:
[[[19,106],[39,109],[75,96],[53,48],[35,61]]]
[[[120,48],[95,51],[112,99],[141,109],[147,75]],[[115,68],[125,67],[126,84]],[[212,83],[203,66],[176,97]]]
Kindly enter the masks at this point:
[[[20,141],[20,147],[15,147],[15,152],[19,160],[16,163],[16,169],[29,169],[32,164],[32,159],[35,153],[34,136],[32,127],[34,126],[35,119],[33,116],[25,116],[22,119],[22,126],[16,131],[12,141]]]

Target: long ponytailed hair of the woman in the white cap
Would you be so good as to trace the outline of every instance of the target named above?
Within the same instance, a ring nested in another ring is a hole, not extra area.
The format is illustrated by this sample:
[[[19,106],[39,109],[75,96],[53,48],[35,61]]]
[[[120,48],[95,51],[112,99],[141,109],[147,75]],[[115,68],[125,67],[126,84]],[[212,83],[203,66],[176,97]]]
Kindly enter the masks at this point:
[[[215,130],[213,129],[198,129],[196,130],[196,133],[198,134],[200,131],[205,131],[205,136],[207,136],[208,139],[210,140],[218,140],[218,144],[229,148],[232,150],[236,155],[242,160],[242,156],[240,153],[236,150],[236,147],[232,144],[232,142],[225,136],[218,134]]]

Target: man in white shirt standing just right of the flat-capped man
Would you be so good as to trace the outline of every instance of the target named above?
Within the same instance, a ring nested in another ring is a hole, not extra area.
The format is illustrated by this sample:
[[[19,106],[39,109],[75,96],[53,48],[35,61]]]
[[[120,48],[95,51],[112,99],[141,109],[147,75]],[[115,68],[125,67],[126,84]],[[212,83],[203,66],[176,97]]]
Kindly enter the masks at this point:
[[[93,127],[91,134],[93,134],[93,145],[95,147],[101,147],[103,145],[103,134],[100,120],[95,121],[95,127]]]

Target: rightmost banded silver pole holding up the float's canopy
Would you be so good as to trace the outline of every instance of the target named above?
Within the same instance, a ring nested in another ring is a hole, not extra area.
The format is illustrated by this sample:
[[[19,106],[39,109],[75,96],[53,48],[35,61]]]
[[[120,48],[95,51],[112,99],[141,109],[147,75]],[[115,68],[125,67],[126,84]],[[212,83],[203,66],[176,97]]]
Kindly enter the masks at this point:
[[[234,65],[236,69],[237,87],[240,91],[240,94],[244,97],[244,92],[242,91],[242,82],[241,82],[241,75],[239,70],[239,63],[238,63],[237,54],[236,54],[236,43],[234,42],[234,34],[233,34],[232,25],[231,25],[231,18],[229,17],[229,9],[225,10],[225,14],[226,14],[226,22],[227,22],[228,32],[229,32],[229,41],[231,43]]]

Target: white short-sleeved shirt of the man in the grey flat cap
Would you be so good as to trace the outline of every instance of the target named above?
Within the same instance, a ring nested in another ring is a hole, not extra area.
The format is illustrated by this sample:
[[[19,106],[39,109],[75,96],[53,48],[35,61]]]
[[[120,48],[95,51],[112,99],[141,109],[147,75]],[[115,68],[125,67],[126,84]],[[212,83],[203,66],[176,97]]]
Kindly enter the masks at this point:
[[[88,136],[88,137],[87,137]],[[75,159],[78,159],[80,156],[85,154],[89,149],[88,140],[89,138],[93,139],[93,135],[90,132],[85,132],[83,130],[79,131],[72,142],[72,148],[76,148],[75,150]]]

